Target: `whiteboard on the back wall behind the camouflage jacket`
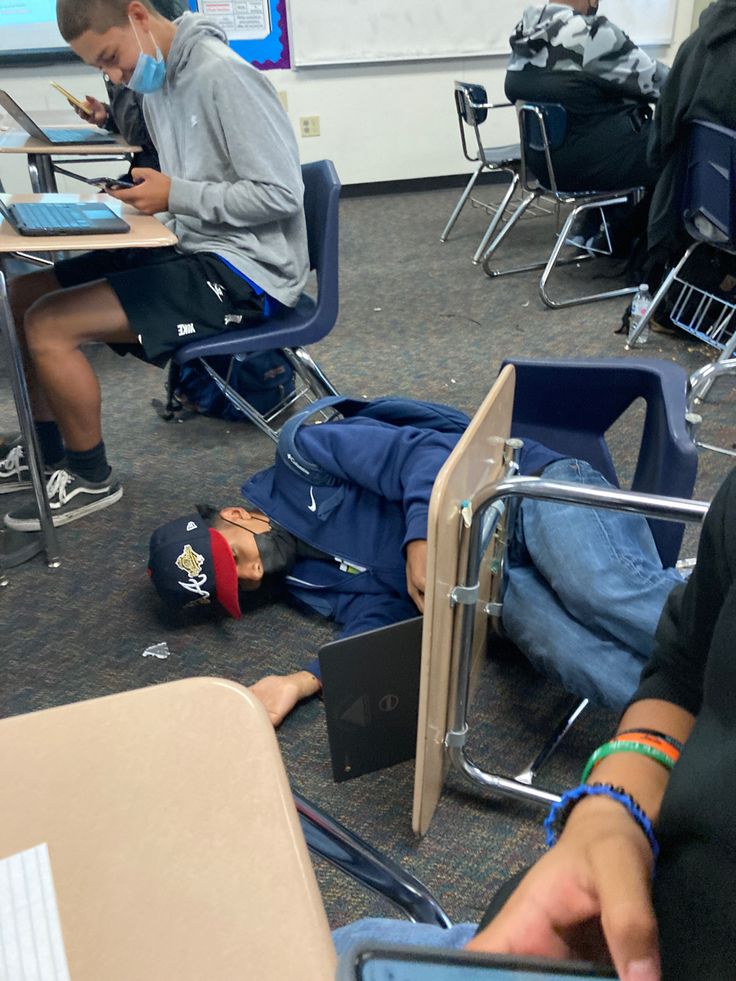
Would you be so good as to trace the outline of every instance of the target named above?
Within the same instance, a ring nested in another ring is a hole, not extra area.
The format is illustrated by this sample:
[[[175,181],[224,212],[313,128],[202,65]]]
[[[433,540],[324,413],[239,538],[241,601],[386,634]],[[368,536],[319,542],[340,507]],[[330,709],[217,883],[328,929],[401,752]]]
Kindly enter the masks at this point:
[[[505,55],[528,0],[289,0],[293,64]],[[677,0],[605,0],[637,44],[669,44]]]

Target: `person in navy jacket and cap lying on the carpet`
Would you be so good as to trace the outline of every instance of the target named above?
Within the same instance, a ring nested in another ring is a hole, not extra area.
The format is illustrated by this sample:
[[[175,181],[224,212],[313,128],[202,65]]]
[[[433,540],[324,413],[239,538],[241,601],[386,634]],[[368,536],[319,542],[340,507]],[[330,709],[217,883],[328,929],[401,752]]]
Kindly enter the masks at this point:
[[[355,414],[340,421],[305,425],[313,410],[290,420],[274,466],[243,485],[244,506],[154,532],[149,566],[164,601],[179,609],[214,600],[239,617],[239,589],[277,580],[297,602],[333,618],[342,636],[415,616],[424,606],[432,487],[468,422],[442,406],[422,415],[426,406],[354,400],[340,408]],[[584,461],[531,440],[521,469],[606,483]],[[665,598],[682,581],[662,568],[648,524],[638,515],[528,500],[513,537],[508,636],[571,691],[623,706]],[[274,724],[319,690],[318,671],[315,660],[258,682],[254,691]]]

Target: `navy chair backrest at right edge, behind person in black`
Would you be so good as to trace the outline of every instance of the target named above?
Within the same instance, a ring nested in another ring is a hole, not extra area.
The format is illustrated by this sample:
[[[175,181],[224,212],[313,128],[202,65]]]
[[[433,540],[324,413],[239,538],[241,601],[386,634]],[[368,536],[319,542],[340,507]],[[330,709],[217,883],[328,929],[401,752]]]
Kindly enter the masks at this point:
[[[736,250],[735,178],[736,132],[715,123],[694,122],[683,190],[683,220],[693,238]],[[713,234],[699,219],[710,222]]]

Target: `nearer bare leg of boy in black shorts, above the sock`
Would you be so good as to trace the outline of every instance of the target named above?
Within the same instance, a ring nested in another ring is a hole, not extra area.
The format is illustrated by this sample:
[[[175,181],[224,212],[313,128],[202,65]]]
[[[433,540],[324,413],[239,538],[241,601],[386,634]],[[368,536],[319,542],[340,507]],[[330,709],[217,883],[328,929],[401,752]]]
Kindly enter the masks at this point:
[[[42,295],[26,310],[24,334],[38,411],[50,410],[47,418],[56,420],[68,449],[96,446],[102,439],[100,386],[80,347],[138,342],[114,290],[100,280]]]

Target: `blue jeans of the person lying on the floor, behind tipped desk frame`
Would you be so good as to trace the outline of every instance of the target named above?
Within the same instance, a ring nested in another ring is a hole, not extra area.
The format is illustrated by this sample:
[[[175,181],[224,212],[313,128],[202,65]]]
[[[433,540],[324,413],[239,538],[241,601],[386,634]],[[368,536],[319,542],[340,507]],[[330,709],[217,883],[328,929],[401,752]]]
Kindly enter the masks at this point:
[[[558,460],[543,477],[610,487],[582,460]],[[599,705],[622,709],[654,646],[670,590],[641,515],[524,500],[509,551],[502,623],[544,674]]]

